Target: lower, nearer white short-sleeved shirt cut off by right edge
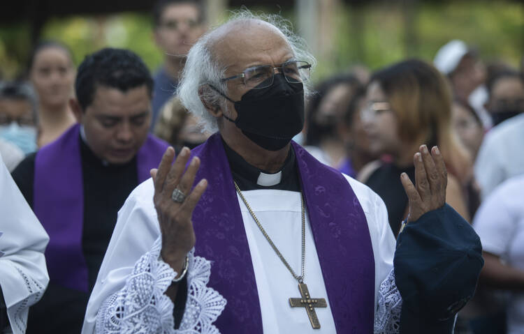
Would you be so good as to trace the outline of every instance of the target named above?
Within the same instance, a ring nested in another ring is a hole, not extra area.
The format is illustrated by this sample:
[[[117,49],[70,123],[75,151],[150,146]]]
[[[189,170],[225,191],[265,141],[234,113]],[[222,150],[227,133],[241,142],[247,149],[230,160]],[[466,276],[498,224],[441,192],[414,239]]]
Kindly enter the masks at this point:
[[[524,271],[524,175],[505,181],[486,198],[473,227],[484,251]],[[524,293],[511,293],[507,312],[508,334],[524,333]]]

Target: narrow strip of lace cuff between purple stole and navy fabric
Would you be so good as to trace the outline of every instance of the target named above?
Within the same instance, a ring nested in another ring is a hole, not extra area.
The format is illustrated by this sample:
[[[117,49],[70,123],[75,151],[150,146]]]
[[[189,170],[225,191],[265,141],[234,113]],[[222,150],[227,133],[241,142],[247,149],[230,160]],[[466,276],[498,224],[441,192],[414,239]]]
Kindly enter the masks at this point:
[[[374,317],[374,334],[397,334],[400,331],[402,297],[395,284],[393,268],[380,284],[379,303]]]

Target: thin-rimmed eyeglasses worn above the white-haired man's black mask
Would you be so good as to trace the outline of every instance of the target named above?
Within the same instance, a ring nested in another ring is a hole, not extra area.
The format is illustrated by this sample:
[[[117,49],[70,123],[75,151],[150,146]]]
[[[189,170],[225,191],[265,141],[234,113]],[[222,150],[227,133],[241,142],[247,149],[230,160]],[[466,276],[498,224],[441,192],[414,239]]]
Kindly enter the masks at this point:
[[[273,84],[275,70],[280,70],[290,84],[310,79],[311,64],[305,61],[286,61],[281,66],[271,65],[247,68],[244,72],[221,79],[221,82],[242,78],[242,82],[251,89],[263,89]],[[268,80],[269,79],[269,80]],[[262,84],[263,83],[263,84]]]

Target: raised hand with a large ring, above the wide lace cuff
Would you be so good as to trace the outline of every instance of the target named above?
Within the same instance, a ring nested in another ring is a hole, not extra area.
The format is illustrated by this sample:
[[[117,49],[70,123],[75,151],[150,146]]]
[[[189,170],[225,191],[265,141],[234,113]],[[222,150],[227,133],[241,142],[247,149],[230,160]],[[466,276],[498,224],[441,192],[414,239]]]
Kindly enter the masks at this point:
[[[208,181],[202,179],[191,191],[196,172],[200,167],[200,159],[193,158],[184,172],[189,153],[189,149],[184,147],[175,163],[171,165],[175,158],[175,150],[169,147],[163,153],[159,168],[151,171],[154,182],[154,208],[157,209],[162,234],[160,254],[163,261],[166,261],[177,273],[180,273],[187,253],[195,245],[196,238],[191,216],[205,188],[208,187]],[[173,195],[174,191],[175,195]],[[176,193],[179,194],[178,197]]]

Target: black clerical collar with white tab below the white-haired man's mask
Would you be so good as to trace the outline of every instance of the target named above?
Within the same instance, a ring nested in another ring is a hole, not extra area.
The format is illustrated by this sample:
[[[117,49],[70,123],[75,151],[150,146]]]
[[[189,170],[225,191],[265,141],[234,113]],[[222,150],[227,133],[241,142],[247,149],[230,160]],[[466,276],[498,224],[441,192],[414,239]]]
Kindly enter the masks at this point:
[[[282,169],[277,173],[269,173],[249,165],[249,162],[233,151],[224,139],[222,139],[222,143],[226,150],[226,157],[231,167],[233,180],[238,184],[240,190],[273,189],[300,191],[300,181],[298,179],[293,147],[289,149]]]

